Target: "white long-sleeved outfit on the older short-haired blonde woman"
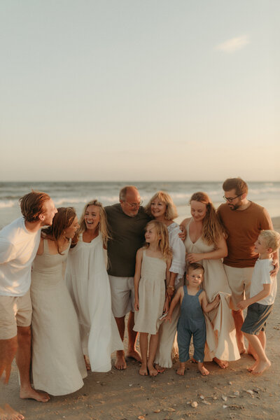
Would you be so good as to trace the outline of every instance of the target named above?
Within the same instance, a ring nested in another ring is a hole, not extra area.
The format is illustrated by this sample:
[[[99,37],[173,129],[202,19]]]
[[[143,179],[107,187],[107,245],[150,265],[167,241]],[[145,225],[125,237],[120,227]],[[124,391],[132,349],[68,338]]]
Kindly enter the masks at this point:
[[[185,272],[186,249],[183,241],[179,238],[181,232],[177,223],[172,223],[167,226],[169,234],[169,246],[172,248],[172,265],[170,272],[177,273],[175,279],[175,293],[180,286],[183,286],[183,275]],[[177,304],[173,314],[172,321],[162,322],[159,329],[158,349],[155,354],[155,363],[162,367],[172,367],[172,346],[177,347],[174,338],[177,330],[177,323],[180,316],[180,305]]]

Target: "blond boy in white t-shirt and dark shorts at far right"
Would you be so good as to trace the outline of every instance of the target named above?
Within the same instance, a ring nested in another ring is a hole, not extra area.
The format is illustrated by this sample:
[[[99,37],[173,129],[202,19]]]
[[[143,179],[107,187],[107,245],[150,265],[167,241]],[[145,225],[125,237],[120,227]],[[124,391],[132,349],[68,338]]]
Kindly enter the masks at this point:
[[[276,276],[270,275],[270,272],[274,269],[272,253],[276,252],[279,246],[278,232],[274,230],[260,232],[255,241],[255,252],[259,253],[259,258],[253,269],[250,298],[241,300],[237,305],[239,309],[248,307],[241,331],[255,351],[255,363],[248,368],[253,374],[260,374],[271,365],[265,354],[265,325],[276,297],[277,280]]]

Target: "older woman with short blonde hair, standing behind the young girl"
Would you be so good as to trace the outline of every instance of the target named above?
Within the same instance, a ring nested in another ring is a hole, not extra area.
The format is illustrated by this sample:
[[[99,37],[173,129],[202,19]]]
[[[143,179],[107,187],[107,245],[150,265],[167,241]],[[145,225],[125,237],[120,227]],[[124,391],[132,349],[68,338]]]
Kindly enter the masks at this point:
[[[175,204],[169,194],[158,191],[155,193],[146,206],[146,212],[153,216],[155,220],[164,223],[169,233],[169,246],[172,249],[172,265],[169,269],[170,280],[167,284],[167,295],[169,301],[174,295],[174,291],[183,285],[183,275],[185,271],[186,249],[180,239],[180,227],[174,222],[178,216]],[[159,344],[155,355],[155,368],[158,372],[163,372],[165,367],[172,367],[172,346],[176,335],[177,323],[179,320],[180,307],[174,309],[171,323],[162,323],[159,330]]]

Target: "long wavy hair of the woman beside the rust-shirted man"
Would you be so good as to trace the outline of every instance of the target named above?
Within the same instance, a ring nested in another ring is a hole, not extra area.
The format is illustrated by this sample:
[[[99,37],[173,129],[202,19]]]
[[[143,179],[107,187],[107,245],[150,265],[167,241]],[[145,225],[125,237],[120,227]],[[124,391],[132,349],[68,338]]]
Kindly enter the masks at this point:
[[[190,202],[197,201],[206,205],[207,212],[202,221],[202,239],[207,245],[214,244],[217,246],[219,239],[224,235],[224,228],[218,219],[216,209],[211,202],[207,193],[201,191],[190,197]]]

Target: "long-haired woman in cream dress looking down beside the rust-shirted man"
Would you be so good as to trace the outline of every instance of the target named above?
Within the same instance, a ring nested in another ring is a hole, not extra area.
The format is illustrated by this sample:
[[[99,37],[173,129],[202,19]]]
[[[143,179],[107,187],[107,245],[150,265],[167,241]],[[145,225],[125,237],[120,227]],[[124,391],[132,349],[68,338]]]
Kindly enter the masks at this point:
[[[205,361],[214,360],[225,369],[229,360],[240,358],[235,321],[230,309],[230,286],[221,258],[228,255],[223,227],[216,210],[206,193],[195,193],[190,198],[191,218],[182,222],[186,228],[185,246],[187,262],[200,262],[204,267],[204,288],[207,299],[212,302],[216,295],[221,300],[217,308],[205,315],[207,344]]]

